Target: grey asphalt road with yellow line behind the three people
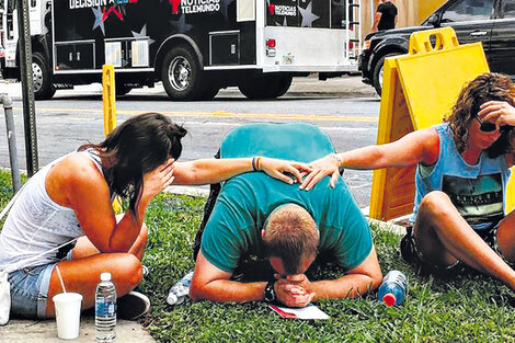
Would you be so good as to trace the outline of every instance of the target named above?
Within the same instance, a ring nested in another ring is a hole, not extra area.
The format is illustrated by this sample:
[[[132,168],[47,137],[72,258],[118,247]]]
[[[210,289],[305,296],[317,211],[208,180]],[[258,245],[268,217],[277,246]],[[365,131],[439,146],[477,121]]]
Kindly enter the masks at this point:
[[[142,112],[170,115],[190,132],[183,140],[183,160],[214,156],[229,129],[250,122],[312,123],[330,135],[337,151],[376,141],[379,98],[363,88],[359,80],[348,83],[342,79],[327,84],[308,80],[297,81],[297,85],[295,82],[290,92],[273,101],[248,101],[237,89],[222,90],[210,102],[171,102],[159,87],[134,90],[117,100],[117,122]],[[350,87],[357,89],[348,90]],[[19,161],[24,169],[22,102],[15,85],[11,84],[10,89],[14,100]],[[39,167],[83,142],[102,140],[102,113],[99,84],[58,91],[52,101],[36,102]],[[0,165],[9,167],[5,123],[0,122]],[[368,206],[371,172],[347,170],[344,179],[359,206]]]

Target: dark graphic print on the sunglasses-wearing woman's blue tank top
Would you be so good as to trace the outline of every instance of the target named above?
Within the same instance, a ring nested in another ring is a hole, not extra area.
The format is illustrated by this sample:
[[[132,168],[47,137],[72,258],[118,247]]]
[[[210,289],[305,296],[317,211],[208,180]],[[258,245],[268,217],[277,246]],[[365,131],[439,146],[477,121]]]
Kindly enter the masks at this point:
[[[477,179],[444,175],[442,191],[472,226],[492,222],[503,216],[501,173],[480,175]]]

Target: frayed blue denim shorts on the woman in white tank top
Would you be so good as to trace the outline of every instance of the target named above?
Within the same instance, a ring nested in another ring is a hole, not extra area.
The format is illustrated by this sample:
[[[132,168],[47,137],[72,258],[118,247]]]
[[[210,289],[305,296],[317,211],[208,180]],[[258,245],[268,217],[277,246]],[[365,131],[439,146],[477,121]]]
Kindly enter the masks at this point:
[[[11,316],[46,318],[46,304],[52,271],[57,263],[25,267],[9,273],[11,283]]]

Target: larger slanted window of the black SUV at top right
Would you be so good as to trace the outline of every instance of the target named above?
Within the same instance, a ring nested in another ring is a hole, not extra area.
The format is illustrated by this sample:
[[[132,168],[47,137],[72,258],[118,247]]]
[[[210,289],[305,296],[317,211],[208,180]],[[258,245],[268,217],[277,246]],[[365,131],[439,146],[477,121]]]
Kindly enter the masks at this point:
[[[442,15],[440,23],[489,20],[493,13],[493,0],[458,0]]]

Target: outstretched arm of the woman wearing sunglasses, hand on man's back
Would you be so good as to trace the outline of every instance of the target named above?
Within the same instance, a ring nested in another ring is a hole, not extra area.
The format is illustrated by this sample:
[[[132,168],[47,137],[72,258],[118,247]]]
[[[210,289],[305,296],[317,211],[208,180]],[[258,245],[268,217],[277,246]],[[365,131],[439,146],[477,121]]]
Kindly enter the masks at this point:
[[[336,156],[331,153],[313,161],[310,163],[312,171],[306,176],[300,188],[309,191],[327,175],[331,175],[330,185],[334,187],[340,167],[369,170],[416,163],[431,165],[438,159],[438,153],[439,138],[436,129],[420,129],[393,142],[358,148]]]

